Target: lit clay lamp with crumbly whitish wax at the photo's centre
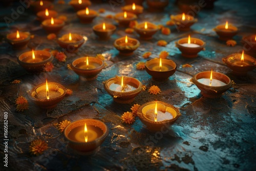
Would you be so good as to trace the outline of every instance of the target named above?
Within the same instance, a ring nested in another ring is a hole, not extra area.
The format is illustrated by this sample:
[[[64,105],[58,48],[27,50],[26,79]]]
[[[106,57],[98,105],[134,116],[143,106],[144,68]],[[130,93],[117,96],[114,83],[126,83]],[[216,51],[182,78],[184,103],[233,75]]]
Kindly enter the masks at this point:
[[[103,82],[104,89],[117,103],[130,103],[142,91],[142,84],[133,77],[111,78]]]

